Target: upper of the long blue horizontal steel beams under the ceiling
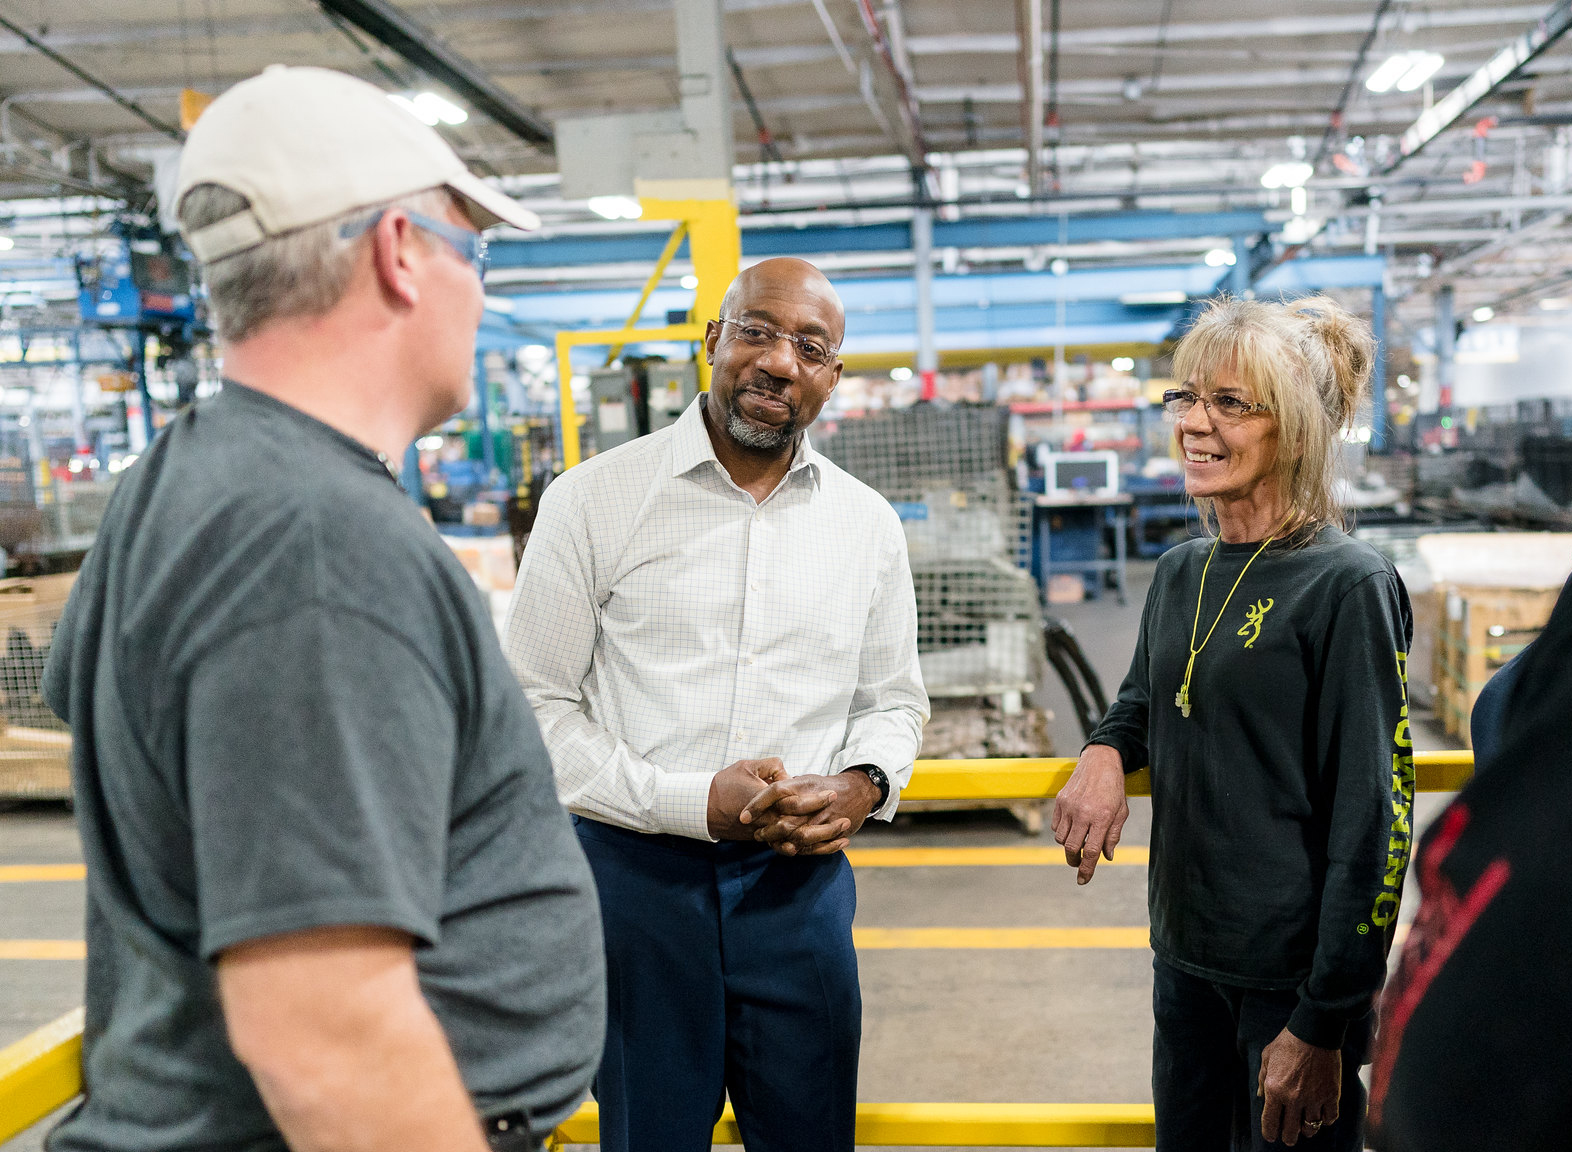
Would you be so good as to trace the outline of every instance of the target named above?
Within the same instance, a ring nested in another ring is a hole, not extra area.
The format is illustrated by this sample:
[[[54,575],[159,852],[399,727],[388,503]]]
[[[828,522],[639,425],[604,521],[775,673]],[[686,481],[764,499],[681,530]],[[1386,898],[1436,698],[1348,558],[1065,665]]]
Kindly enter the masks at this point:
[[[1096,240],[1171,240],[1270,231],[1261,212],[1107,212],[997,217],[938,222],[935,248],[1005,248]],[[495,240],[492,267],[569,267],[580,264],[654,262],[668,231],[613,236],[560,236],[539,240]],[[902,223],[835,228],[744,228],[744,256],[805,256],[821,251],[907,251],[912,231]],[[687,253],[687,245],[679,256]]]

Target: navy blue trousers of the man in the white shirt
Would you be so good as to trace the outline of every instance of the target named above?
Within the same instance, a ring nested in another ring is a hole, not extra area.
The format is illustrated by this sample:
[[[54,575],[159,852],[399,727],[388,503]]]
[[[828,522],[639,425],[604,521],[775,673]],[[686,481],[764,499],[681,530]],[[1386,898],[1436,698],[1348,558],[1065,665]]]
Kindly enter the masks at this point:
[[[846,857],[574,824],[605,921],[602,1152],[707,1152],[728,1092],[750,1152],[849,1152],[863,1004]]]

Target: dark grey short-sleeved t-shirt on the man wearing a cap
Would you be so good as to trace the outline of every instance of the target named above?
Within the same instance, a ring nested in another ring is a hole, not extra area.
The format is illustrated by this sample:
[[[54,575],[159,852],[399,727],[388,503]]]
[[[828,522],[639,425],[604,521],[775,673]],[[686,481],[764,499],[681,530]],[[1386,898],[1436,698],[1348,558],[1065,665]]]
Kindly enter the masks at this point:
[[[85,1102],[50,1149],[283,1149],[212,962],[417,940],[486,1114],[544,1133],[604,1029],[594,885],[464,567],[365,446],[239,385],[121,479],[55,633],[88,861]]]

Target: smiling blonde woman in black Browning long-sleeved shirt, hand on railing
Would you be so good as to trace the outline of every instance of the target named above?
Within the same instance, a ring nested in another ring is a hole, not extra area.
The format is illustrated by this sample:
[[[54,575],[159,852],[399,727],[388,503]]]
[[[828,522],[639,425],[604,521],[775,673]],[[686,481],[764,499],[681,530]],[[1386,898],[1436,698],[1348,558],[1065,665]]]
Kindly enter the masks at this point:
[[[1151,765],[1152,1097],[1166,1152],[1363,1149],[1371,1003],[1409,863],[1409,596],[1347,536],[1369,327],[1225,299],[1165,393],[1217,539],[1157,564],[1130,673],[1053,809],[1091,880]]]

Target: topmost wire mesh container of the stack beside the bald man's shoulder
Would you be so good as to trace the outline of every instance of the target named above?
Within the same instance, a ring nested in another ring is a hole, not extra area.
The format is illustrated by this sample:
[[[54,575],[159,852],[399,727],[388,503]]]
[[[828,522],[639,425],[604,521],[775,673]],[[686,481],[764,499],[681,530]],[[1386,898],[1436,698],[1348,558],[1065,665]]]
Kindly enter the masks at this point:
[[[843,420],[816,445],[879,492],[1003,473],[1009,464],[1009,412],[994,405],[910,409]]]

